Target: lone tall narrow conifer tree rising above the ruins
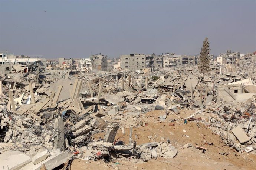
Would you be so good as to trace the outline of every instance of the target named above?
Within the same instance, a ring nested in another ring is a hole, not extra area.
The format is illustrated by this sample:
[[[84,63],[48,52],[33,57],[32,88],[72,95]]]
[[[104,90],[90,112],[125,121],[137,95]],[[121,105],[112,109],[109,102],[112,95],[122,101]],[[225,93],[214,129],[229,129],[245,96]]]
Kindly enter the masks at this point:
[[[209,59],[208,55],[210,53],[208,38],[205,37],[203,42],[203,47],[201,48],[200,57],[199,57],[199,64],[198,64],[198,70],[200,73],[207,73],[209,71]]]

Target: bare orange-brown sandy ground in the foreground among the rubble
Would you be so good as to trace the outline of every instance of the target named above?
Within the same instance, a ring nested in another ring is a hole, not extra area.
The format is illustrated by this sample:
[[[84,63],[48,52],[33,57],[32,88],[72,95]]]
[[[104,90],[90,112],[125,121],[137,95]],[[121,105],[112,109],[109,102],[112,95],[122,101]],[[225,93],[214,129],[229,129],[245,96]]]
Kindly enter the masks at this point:
[[[132,138],[136,140],[137,145],[147,142],[165,142],[170,139],[172,145],[178,149],[178,154],[172,159],[157,158],[148,162],[135,160],[131,158],[117,158],[112,162],[105,163],[104,160],[85,161],[73,160],[71,170],[82,169],[213,169],[213,170],[238,170],[238,169],[255,169],[256,155],[253,153],[239,153],[233,148],[224,146],[220,137],[214,134],[207,126],[202,123],[188,122],[166,122],[155,121],[154,116],[161,115],[157,112],[149,112],[145,115],[143,126],[133,128]],[[187,116],[191,113],[181,113],[179,116]],[[147,123],[147,126],[145,125]],[[115,137],[115,140],[122,140],[128,143],[129,128],[125,128],[125,135],[121,129]],[[186,135],[186,136],[185,136]],[[104,133],[98,133],[93,137],[95,139],[103,138]],[[184,149],[182,146],[191,143],[193,146],[206,148],[206,152],[190,147]],[[212,144],[211,144],[212,143]],[[211,144],[211,145],[209,145]],[[227,155],[221,155],[224,152]]]

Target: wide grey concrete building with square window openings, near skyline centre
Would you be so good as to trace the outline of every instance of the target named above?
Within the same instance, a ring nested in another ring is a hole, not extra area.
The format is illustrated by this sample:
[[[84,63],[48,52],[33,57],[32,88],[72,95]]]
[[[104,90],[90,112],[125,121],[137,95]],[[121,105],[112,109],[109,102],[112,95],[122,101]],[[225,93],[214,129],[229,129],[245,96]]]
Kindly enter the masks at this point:
[[[154,54],[129,54],[120,56],[120,65],[123,69],[136,70],[154,68]]]

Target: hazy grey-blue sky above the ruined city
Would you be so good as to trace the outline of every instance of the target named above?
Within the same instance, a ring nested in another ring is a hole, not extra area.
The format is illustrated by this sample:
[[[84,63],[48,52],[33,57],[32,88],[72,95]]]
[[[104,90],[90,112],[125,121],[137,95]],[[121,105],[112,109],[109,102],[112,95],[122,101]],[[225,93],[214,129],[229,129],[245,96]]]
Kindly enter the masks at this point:
[[[44,58],[256,50],[256,0],[0,0],[0,50]]]

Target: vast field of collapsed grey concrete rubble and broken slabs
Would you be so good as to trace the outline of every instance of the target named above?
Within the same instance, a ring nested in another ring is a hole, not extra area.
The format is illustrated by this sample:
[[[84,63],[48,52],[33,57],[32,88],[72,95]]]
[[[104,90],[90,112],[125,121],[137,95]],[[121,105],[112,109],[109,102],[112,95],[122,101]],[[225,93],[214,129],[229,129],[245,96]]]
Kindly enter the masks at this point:
[[[73,159],[171,159],[178,150],[170,139],[137,145],[133,137],[133,128],[161,122],[203,123],[236,152],[255,152],[253,64],[211,62],[204,75],[196,66],[82,75],[13,67],[0,75],[0,169],[61,169]],[[182,117],[182,110],[191,114]],[[129,134],[129,142],[116,138],[118,132]]]

